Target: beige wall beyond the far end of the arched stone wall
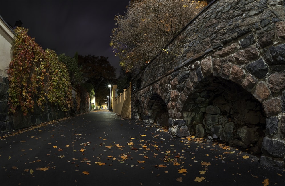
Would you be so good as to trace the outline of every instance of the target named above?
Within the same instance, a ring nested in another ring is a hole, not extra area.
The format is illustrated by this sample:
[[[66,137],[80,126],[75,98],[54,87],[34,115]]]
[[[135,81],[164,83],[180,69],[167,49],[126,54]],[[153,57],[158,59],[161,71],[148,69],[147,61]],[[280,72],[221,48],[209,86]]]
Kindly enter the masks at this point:
[[[113,111],[131,118],[131,84],[123,93],[113,99]]]

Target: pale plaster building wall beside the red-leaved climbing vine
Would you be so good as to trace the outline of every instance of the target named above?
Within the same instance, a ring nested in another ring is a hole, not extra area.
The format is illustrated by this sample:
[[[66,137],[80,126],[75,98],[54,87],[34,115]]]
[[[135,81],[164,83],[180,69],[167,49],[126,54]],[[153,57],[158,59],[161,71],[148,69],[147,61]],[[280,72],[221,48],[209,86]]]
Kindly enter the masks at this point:
[[[12,58],[12,43],[14,32],[7,26],[7,23],[0,16],[0,76],[8,77],[7,67]]]

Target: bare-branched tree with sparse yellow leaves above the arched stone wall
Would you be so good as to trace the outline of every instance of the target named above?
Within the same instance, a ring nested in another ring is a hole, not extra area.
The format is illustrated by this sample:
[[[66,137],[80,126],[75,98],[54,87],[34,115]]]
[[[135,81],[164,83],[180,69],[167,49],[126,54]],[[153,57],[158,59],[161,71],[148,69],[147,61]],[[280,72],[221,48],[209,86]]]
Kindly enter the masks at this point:
[[[120,65],[133,71],[148,64],[206,2],[190,0],[131,1],[125,16],[115,16],[110,46]]]

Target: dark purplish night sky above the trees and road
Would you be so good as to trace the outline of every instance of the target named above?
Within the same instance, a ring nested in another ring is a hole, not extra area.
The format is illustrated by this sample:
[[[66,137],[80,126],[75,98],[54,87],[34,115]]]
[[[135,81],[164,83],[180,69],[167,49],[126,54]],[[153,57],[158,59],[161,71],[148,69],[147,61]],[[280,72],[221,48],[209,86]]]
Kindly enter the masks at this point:
[[[108,57],[119,73],[119,58],[109,46],[115,15],[124,15],[129,0],[1,0],[0,15],[18,20],[42,48],[73,57]]]

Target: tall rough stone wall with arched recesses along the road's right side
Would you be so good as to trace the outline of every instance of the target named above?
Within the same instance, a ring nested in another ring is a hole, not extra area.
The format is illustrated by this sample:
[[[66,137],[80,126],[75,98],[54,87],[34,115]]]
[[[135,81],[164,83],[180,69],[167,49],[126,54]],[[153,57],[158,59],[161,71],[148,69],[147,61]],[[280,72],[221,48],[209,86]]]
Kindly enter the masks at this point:
[[[261,163],[284,167],[284,0],[212,1],[165,49],[132,80],[132,118],[156,118],[158,95],[170,134],[261,150]]]

